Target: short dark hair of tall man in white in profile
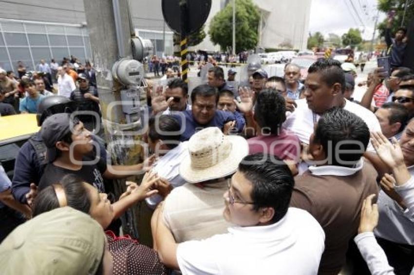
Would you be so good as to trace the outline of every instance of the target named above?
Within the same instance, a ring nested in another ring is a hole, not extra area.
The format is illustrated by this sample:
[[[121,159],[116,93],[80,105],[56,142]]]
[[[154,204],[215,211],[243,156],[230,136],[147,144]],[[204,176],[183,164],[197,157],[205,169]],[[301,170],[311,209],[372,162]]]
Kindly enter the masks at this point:
[[[340,62],[338,60],[318,60],[308,69],[308,74],[312,73],[320,73],[322,81],[328,86],[332,86],[335,83],[341,84],[342,93],[345,92],[345,73],[340,67]]]

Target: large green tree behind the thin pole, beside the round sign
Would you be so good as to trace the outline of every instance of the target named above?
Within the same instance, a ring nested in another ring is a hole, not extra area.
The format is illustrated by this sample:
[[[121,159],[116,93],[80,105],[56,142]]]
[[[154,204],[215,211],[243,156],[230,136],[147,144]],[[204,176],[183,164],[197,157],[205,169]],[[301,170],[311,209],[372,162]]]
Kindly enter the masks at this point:
[[[236,52],[256,47],[259,40],[260,13],[252,0],[236,0]],[[210,21],[208,34],[211,42],[222,49],[232,45],[233,8],[231,3],[218,12]]]

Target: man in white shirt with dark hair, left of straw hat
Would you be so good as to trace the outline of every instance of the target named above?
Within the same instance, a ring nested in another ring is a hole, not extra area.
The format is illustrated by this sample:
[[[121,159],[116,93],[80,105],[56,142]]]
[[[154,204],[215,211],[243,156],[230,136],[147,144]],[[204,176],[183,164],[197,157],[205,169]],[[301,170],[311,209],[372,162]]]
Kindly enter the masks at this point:
[[[153,164],[152,171],[161,178],[168,181],[164,192],[159,190],[158,194],[146,198],[148,206],[155,206],[167,196],[172,188],[186,183],[180,176],[180,164],[188,155],[187,141],[180,142],[180,123],[173,116],[162,115],[150,118],[148,123],[148,145],[151,153],[159,159]]]

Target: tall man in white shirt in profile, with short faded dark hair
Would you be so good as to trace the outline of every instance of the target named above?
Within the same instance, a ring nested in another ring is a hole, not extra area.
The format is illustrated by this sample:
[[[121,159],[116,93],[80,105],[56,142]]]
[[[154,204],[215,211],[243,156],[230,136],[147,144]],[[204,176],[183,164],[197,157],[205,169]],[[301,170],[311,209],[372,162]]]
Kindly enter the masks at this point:
[[[297,108],[283,123],[283,128],[291,130],[301,142],[309,144],[309,137],[320,116],[338,106],[362,118],[371,132],[381,132],[374,113],[343,98],[344,91],[345,75],[339,61],[328,59],[313,63],[305,81],[303,93],[306,98],[296,101]]]

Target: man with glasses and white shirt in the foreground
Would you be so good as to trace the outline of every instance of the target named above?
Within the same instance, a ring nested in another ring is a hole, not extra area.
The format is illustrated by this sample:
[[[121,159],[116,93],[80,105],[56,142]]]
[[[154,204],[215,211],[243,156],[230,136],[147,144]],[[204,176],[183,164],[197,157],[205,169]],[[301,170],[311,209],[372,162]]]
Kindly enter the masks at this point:
[[[264,161],[263,161],[264,159]],[[152,218],[160,259],[182,274],[317,274],[325,235],[306,211],[289,208],[294,180],[269,155],[245,157],[228,180],[228,233],[177,244],[159,209]]]

